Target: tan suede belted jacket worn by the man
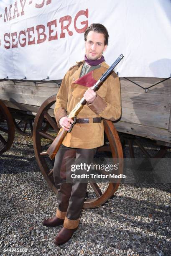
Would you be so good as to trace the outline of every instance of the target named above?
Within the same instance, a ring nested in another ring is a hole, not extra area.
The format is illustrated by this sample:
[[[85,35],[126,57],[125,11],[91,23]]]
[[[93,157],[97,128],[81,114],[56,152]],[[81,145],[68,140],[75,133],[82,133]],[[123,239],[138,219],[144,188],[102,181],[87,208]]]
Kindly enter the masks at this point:
[[[65,74],[61,87],[56,96],[54,114],[59,126],[59,120],[68,115],[75,105],[82,99],[88,87],[77,84],[84,61],[77,62]],[[101,67],[93,70],[92,79],[98,80],[108,69],[105,62]],[[89,118],[89,123],[76,123],[71,133],[67,133],[63,145],[71,148],[96,148],[104,143],[103,122],[92,123],[92,118],[102,117],[117,120],[121,115],[120,80],[115,72],[105,80],[97,91],[97,97],[84,105],[77,118]],[[60,127],[60,126],[59,126]]]

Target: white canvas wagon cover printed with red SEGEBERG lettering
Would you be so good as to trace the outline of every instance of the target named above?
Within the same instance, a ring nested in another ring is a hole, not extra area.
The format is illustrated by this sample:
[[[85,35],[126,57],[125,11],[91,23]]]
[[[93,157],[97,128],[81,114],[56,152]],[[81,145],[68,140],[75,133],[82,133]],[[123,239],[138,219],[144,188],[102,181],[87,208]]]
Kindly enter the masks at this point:
[[[120,77],[170,77],[170,0],[0,0],[0,79],[62,79],[84,59],[84,31],[102,23],[105,60]]]

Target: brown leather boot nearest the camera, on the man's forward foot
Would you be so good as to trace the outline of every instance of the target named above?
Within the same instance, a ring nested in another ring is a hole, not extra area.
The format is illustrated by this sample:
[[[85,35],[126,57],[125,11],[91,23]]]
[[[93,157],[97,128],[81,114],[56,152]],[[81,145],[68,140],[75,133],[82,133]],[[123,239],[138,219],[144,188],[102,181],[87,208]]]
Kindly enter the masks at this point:
[[[77,230],[77,228],[74,228],[74,229],[62,228],[59,231],[58,235],[56,236],[56,238],[54,240],[54,244],[56,246],[60,246],[61,244],[68,242],[69,239],[74,234],[74,232]]]

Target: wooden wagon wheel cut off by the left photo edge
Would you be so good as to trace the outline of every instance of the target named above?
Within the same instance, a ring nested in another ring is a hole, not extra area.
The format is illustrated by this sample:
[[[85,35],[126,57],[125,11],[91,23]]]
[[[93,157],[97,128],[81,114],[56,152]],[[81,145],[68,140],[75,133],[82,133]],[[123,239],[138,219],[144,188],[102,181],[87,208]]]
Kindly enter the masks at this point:
[[[0,154],[7,151],[14,140],[14,123],[10,111],[0,101]]]

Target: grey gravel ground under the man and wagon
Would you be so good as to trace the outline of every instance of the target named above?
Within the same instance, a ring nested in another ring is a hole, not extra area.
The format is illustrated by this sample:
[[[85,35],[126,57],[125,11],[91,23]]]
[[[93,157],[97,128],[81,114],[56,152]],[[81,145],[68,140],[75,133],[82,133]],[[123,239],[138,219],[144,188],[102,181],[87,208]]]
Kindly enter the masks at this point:
[[[104,205],[82,211],[79,229],[60,247],[53,244],[59,228],[41,225],[55,212],[32,139],[16,133],[0,156],[0,255],[171,255],[171,184],[121,184]]]

